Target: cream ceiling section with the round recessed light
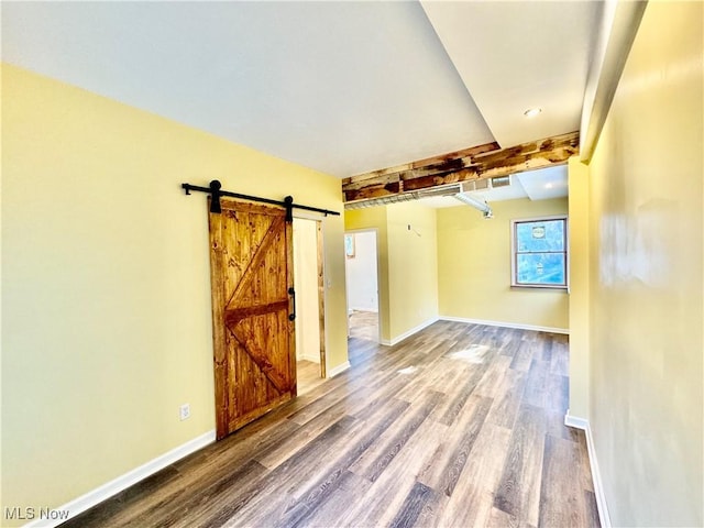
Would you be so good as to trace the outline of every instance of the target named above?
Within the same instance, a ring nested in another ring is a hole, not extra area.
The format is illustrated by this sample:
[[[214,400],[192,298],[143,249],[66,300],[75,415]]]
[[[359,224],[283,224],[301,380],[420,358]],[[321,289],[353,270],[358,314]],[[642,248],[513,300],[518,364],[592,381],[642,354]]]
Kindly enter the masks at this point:
[[[602,2],[421,3],[502,147],[580,129]]]

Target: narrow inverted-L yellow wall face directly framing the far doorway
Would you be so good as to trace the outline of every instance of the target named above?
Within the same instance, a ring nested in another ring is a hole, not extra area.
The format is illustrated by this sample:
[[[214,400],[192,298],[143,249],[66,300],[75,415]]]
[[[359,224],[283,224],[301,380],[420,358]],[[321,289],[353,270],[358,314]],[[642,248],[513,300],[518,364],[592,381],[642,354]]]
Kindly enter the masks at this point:
[[[378,324],[382,341],[389,341],[391,322],[388,309],[388,229],[386,227],[386,207],[370,207],[344,211],[344,230],[376,230],[376,251],[378,257]]]

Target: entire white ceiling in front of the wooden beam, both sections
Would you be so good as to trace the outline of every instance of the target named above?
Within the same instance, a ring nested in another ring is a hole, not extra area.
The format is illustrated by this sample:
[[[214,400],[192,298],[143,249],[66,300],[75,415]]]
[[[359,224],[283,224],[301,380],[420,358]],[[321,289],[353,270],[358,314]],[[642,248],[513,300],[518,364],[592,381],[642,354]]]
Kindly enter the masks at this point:
[[[578,130],[601,8],[3,1],[2,59],[346,177]]]

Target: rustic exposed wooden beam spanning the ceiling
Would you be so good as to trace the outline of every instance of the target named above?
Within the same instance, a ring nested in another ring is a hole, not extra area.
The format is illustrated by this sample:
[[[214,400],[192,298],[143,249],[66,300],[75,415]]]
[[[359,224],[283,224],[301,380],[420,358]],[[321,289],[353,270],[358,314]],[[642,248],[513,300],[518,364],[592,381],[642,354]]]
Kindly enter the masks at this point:
[[[496,143],[463,148],[342,180],[344,201],[369,200],[458,182],[507,176],[566,163],[579,153],[580,133],[554,135],[499,148]]]

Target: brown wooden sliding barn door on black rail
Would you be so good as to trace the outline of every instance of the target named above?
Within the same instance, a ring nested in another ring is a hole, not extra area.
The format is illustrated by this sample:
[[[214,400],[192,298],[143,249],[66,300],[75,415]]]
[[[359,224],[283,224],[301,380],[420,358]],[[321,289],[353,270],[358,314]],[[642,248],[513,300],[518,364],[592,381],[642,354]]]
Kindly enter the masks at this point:
[[[217,435],[296,396],[293,229],[283,208],[209,213]]]

